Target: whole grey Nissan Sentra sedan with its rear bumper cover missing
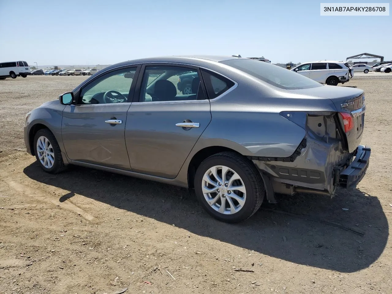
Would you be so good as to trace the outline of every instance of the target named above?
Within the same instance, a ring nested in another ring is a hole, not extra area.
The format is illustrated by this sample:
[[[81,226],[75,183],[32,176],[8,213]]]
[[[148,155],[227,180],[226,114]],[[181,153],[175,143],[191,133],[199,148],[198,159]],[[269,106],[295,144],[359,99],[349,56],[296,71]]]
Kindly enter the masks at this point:
[[[182,94],[189,73],[195,94]],[[194,188],[234,223],[274,193],[355,189],[371,152],[359,145],[365,117],[358,88],[248,58],[171,56],[111,65],[45,102],[27,113],[24,140],[45,172],[73,164]]]

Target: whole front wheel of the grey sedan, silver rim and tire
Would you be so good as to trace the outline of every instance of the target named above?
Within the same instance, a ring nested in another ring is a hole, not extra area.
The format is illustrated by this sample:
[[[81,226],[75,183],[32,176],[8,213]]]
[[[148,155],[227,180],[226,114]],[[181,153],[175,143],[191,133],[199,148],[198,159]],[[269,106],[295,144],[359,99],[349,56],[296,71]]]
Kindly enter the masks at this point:
[[[37,162],[45,172],[56,174],[65,169],[60,146],[48,129],[40,129],[35,134],[34,153]]]

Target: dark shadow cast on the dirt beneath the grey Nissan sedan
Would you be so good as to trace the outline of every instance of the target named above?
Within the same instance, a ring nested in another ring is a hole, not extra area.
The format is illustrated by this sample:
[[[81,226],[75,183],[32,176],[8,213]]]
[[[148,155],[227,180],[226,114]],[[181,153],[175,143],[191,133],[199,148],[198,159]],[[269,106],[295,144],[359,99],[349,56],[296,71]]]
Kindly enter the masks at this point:
[[[36,162],[24,173],[35,181],[69,191],[60,201],[79,194],[199,236],[322,269],[364,269],[379,258],[388,239],[387,218],[379,200],[359,190],[338,190],[332,199],[310,194],[278,195],[275,209],[308,220],[265,211],[263,205],[249,220],[226,224],[204,212],[187,189],[76,166],[47,178]],[[309,219],[339,223],[364,235]]]

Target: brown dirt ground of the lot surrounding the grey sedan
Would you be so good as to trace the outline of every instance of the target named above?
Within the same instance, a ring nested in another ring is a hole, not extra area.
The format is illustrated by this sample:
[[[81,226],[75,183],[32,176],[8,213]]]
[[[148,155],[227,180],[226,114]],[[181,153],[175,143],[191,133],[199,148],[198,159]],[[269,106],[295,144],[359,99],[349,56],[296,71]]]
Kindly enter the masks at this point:
[[[358,189],[279,196],[235,225],[186,189],[43,172],[23,150],[25,114],[84,78],[0,81],[0,293],[392,293],[392,76],[345,84],[366,93],[372,155]]]

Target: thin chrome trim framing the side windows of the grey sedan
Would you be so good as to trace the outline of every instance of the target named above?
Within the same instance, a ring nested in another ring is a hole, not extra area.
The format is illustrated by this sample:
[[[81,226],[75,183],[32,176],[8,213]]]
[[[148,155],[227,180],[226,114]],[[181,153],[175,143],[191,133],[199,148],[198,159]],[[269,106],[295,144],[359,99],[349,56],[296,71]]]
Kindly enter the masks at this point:
[[[230,78],[228,78],[227,76],[225,76],[224,74],[218,73],[217,71],[214,71],[212,69],[209,69],[207,67],[203,67],[203,66],[198,66],[198,65],[194,65],[194,64],[188,64],[188,63],[184,63],[184,62],[142,62],[142,63],[136,63],[136,64],[127,64],[127,65],[122,65],[122,66],[118,66],[118,67],[113,67],[112,69],[110,69],[110,71],[112,70],[116,70],[116,69],[121,69],[124,67],[132,67],[132,66],[138,66],[138,65],[143,65],[143,64],[180,64],[180,65],[188,65],[188,66],[192,66],[192,67],[198,67],[200,69],[205,69],[207,71],[211,71],[212,73],[216,73],[219,74],[220,76],[223,76],[224,78],[227,78],[228,80],[232,81],[234,83],[234,85],[232,87],[230,87],[229,89],[227,89],[225,92],[223,92],[222,94],[220,94],[219,96],[215,97],[214,99],[205,99],[205,100],[181,100],[181,101],[147,101],[147,102],[124,102],[124,103],[132,103],[132,104],[145,104],[145,103],[184,103],[184,102],[203,102],[203,101],[210,101],[210,102],[214,102],[220,98],[222,98],[223,96],[229,94],[231,91],[235,90],[238,87],[238,83]],[[86,84],[81,84],[79,85],[77,88],[75,88],[73,90],[73,93],[76,93],[77,91],[79,91],[82,86],[84,85],[88,85],[89,83],[93,82],[93,80],[95,80],[96,78],[98,78],[99,76],[101,76],[102,74],[105,74],[107,71],[104,71],[102,73],[95,74],[94,75],[94,79],[92,79],[90,82],[86,83]],[[120,103],[106,103],[106,104],[90,104],[90,105],[111,105],[111,104],[120,104]],[[78,104],[78,106],[82,106],[84,104]]]

